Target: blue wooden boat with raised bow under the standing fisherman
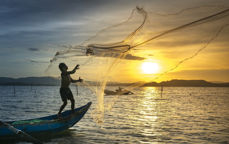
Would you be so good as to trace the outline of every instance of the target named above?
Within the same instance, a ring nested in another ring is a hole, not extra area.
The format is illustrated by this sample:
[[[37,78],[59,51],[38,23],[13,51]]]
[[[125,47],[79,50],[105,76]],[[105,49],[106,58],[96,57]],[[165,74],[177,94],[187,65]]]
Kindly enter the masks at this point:
[[[9,121],[4,123],[26,132],[29,135],[53,134],[75,125],[81,120],[90,106],[91,102],[82,107],[76,108],[74,113],[72,113],[71,110],[65,111],[61,114],[61,118],[58,118],[57,115],[51,115],[36,119]],[[0,139],[9,138],[17,138],[17,134],[12,132],[7,126],[0,125]]]

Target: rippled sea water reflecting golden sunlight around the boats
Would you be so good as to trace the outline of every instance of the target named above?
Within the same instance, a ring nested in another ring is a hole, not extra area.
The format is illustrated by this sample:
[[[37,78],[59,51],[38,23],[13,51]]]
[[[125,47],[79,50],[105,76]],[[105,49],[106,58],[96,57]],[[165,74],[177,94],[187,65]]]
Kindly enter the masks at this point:
[[[133,95],[104,96],[104,122],[99,124],[93,120],[94,92],[79,87],[77,95],[77,88],[71,89],[76,107],[89,101],[92,106],[74,127],[45,139],[46,144],[229,143],[229,88],[164,87],[161,95],[160,88],[141,87]],[[57,86],[0,86],[1,121],[56,114],[61,104]]]

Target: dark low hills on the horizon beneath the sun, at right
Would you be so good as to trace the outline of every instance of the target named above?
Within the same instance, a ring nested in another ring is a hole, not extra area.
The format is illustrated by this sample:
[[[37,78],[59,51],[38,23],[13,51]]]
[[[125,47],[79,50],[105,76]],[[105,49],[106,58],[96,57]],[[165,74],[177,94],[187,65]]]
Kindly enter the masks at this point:
[[[143,86],[167,86],[167,87],[229,87],[229,83],[212,83],[205,80],[171,80],[160,83],[150,82]]]

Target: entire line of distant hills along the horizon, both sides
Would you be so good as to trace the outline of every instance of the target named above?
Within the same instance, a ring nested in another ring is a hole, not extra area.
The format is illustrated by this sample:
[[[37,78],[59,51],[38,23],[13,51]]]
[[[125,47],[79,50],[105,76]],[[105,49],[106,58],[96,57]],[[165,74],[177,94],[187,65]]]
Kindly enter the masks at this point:
[[[89,85],[96,85],[96,82],[86,81]],[[60,85],[60,80],[54,77],[25,77],[25,78],[8,78],[0,77],[0,85]],[[137,85],[136,83],[108,83],[109,86],[131,86]],[[152,87],[229,87],[229,83],[213,83],[205,80],[170,80],[163,81],[160,83],[149,82],[141,83],[141,86],[152,86]]]

